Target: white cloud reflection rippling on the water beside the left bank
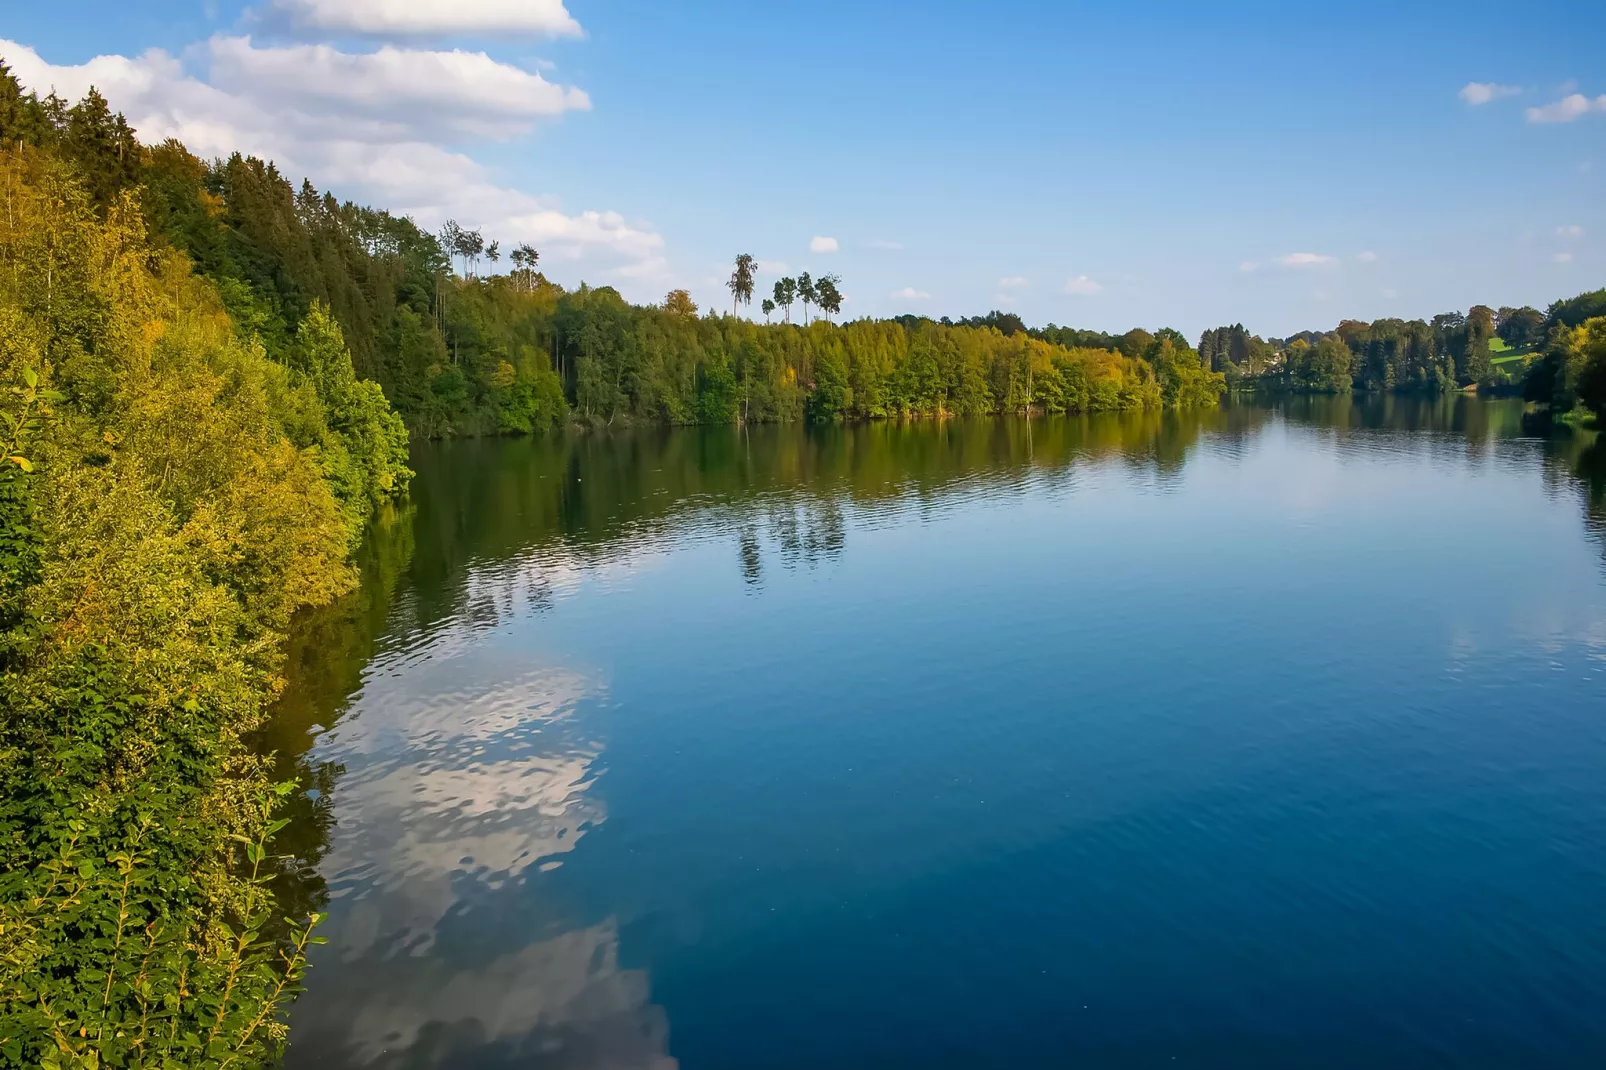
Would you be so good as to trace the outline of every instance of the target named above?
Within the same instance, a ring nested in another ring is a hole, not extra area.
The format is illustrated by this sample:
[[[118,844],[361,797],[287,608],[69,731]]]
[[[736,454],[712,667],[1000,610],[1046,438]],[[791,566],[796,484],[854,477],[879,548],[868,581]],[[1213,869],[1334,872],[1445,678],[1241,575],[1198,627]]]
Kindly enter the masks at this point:
[[[604,744],[581,715],[607,688],[472,641],[480,627],[466,615],[376,662],[315,747],[344,766],[331,943],[289,1062],[673,1067],[617,924],[564,930],[528,909],[528,882],[607,819],[591,790]]]

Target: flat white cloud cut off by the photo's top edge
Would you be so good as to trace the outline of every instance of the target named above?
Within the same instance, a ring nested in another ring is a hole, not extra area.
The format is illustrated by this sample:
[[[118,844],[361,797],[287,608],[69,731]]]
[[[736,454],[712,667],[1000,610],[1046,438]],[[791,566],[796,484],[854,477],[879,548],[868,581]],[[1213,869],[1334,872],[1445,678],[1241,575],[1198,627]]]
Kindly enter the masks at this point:
[[[273,0],[292,26],[357,34],[541,34],[580,37],[564,0]]]

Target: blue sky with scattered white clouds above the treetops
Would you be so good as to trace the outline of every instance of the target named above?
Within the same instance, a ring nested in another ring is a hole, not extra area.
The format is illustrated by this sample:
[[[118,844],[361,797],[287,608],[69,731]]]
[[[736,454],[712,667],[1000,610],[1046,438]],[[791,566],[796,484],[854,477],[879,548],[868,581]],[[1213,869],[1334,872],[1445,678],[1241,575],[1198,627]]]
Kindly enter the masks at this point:
[[[72,0],[0,59],[546,273],[1264,336],[1606,286],[1606,3]],[[744,315],[761,315],[744,308]]]

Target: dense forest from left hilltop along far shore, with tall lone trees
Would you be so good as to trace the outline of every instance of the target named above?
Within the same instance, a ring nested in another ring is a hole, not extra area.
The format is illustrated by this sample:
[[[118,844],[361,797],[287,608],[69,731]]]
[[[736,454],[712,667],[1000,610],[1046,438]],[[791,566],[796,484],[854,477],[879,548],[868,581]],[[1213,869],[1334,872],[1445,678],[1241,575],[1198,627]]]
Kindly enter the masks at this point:
[[[993,313],[952,321],[832,323],[842,280],[774,283],[766,320],[699,315],[671,292],[631,305],[609,288],[567,291],[519,246],[448,222],[430,235],[384,210],[292,186],[271,162],[206,162],[177,141],[140,146],[92,95],[64,108],[0,76],[0,137],[53,148],[104,210],[137,191],[146,227],[214,281],[241,334],[289,361],[326,305],[360,378],[381,384],[414,434],[527,432],[597,421],[729,423],[899,415],[1099,411],[1193,405],[1214,379],[1180,336],[1160,344]],[[482,273],[482,260],[490,272]],[[732,312],[752,305],[756,260],[736,260]],[[801,305],[793,323],[793,305]]]

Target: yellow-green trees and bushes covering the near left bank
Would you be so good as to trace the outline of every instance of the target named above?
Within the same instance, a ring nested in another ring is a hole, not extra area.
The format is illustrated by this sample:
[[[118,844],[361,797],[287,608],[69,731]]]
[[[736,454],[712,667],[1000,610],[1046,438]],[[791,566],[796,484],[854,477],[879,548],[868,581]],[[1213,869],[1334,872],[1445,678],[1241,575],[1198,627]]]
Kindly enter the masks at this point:
[[[132,185],[193,157],[8,77],[0,133],[0,1065],[267,1065],[313,919],[275,908],[246,736],[406,431],[324,300],[352,294],[275,304],[300,291],[212,225],[244,209]]]

